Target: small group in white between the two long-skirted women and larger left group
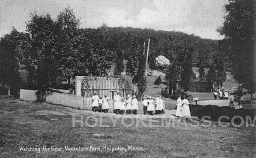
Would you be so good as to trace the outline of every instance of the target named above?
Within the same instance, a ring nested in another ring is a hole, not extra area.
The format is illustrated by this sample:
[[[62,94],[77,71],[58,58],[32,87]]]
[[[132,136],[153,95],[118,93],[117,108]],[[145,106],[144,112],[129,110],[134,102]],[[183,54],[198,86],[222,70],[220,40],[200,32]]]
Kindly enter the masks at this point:
[[[153,115],[153,111],[156,111],[154,114],[164,114],[164,102],[163,97],[161,95],[157,95],[156,99],[147,99],[147,97],[143,97],[143,113],[145,115]],[[154,104],[156,106],[154,106]],[[156,107],[156,108],[155,108]]]

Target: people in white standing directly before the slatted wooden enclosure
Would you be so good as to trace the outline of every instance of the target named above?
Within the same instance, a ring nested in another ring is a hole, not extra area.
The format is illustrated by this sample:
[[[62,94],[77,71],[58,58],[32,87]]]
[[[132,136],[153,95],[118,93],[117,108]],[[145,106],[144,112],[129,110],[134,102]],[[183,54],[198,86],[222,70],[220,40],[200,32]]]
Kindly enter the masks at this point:
[[[94,92],[92,99],[92,111],[96,112],[108,112],[109,111],[109,97],[107,95],[101,99],[97,92]],[[126,100],[124,97],[119,95],[119,92],[114,96],[114,113],[116,114],[137,114],[138,111],[138,100],[135,95],[131,97],[128,95],[128,99]]]

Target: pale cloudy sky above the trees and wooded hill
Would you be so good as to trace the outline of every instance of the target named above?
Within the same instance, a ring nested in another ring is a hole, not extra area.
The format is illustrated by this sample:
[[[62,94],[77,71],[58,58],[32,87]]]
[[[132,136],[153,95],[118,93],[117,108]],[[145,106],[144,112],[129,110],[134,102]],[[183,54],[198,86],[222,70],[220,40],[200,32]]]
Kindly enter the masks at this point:
[[[24,32],[30,13],[57,15],[70,6],[80,28],[152,28],[180,31],[203,39],[223,39],[216,29],[224,21],[228,0],[0,0],[0,37],[11,26]]]

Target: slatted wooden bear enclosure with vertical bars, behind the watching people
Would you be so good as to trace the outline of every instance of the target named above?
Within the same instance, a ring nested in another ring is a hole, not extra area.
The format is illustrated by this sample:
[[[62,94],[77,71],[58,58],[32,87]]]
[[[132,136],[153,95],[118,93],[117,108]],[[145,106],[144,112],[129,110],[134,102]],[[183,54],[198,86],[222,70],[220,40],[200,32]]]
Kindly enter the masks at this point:
[[[76,76],[76,95],[91,97],[96,91],[100,97],[114,98],[116,92],[123,96],[132,94],[133,83],[129,76]]]

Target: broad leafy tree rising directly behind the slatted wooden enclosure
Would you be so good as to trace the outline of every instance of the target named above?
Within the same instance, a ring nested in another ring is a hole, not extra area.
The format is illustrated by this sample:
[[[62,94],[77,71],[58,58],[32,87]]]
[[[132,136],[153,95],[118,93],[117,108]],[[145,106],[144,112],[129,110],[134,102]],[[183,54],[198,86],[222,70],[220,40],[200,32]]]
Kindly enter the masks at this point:
[[[114,61],[114,52],[106,48],[106,40],[100,30],[80,29],[75,75],[107,75]]]

